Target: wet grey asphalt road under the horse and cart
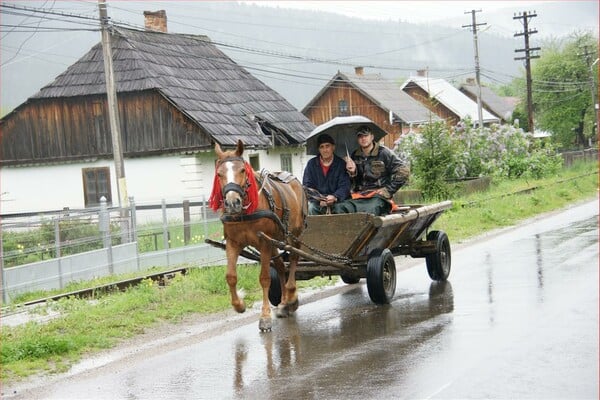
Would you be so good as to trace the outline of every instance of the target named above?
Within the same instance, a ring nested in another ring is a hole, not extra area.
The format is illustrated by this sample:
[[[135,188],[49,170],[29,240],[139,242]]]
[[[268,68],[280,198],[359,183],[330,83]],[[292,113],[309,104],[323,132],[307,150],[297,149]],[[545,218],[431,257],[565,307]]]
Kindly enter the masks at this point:
[[[390,305],[363,280],[271,333],[255,315],[189,330],[13,397],[598,399],[597,201],[454,247],[445,284],[396,264],[414,267]]]

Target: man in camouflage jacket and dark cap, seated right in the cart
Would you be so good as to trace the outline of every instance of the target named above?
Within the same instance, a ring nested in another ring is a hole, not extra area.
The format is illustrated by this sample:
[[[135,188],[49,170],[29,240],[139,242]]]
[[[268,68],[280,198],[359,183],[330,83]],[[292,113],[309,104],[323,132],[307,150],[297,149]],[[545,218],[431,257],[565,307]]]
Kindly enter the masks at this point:
[[[369,127],[359,127],[356,137],[359,147],[346,160],[346,170],[352,177],[352,199],[339,204],[338,212],[386,215],[392,209],[394,193],[408,181],[408,163],[375,143]]]

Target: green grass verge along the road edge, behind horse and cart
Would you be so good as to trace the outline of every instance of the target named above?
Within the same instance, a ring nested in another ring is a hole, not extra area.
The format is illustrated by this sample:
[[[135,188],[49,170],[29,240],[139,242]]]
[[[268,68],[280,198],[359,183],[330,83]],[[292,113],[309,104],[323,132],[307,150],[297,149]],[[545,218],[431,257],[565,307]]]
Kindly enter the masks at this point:
[[[513,194],[531,188],[535,189]],[[542,180],[493,182],[486,192],[452,199],[453,207],[442,214],[433,228],[444,230],[451,243],[459,243],[492,229],[593,199],[597,192],[596,163],[578,164]],[[247,307],[261,300],[258,273],[256,265],[238,267],[238,288],[245,292]],[[65,292],[124,277],[79,282]],[[60,317],[46,323],[1,327],[0,378],[6,384],[37,373],[65,371],[82,357],[111,348],[158,323],[177,323],[185,316],[230,309],[224,277],[223,266],[193,268],[185,276],[176,276],[167,286],[146,280],[125,292],[100,294],[93,301],[68,298],[40,306],[37,312],[59,311]],[[314,278],[299,281],[298,286],[305,290],[333,282]],[[38,292],[18,300],[48,295]]]

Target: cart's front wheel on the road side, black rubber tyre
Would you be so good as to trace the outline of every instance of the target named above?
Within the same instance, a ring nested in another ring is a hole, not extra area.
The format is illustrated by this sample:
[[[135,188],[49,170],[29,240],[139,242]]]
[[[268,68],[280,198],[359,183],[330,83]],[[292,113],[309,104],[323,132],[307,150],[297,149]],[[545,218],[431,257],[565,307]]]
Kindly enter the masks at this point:
[[[390,249],[375,249],[367,261],[367,289],[375,304],[389,304],[396,291],[396,263]]]

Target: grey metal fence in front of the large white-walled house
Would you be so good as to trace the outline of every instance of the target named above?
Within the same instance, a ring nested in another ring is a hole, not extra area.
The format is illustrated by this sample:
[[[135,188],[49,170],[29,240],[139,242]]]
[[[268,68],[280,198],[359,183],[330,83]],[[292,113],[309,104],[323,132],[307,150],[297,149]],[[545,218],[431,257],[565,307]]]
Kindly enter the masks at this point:
[[[218,216],[201,201],[3,215],[0,224],[2,301],[63,289],[74,281],[181,264],[213,265],[224,252]]]

